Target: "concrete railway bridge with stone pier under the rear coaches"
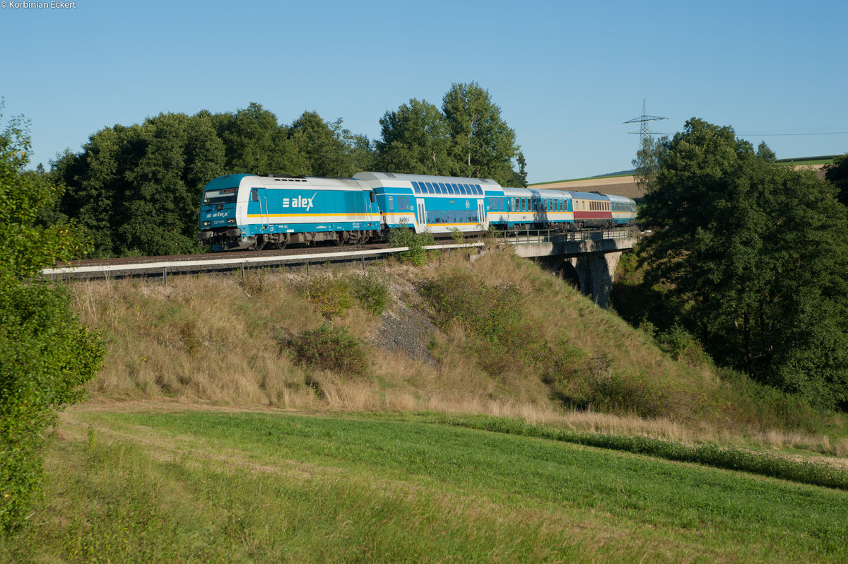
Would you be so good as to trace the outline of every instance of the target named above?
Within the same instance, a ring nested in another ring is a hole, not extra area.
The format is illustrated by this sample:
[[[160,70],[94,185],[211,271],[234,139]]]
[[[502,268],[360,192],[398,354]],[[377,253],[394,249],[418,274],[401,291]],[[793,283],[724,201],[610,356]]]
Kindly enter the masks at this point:
[[[519,232],[508,241],[518,256],[560,274],[603,308],[610,301],[618,260],[633,248],[636,237],[629,229],[617,228],[561,234]]]

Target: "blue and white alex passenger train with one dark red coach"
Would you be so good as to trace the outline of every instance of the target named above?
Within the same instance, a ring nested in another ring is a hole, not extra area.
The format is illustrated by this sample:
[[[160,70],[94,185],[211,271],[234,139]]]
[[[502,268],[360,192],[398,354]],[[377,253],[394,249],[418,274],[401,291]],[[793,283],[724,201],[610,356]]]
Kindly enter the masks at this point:
[[[454,232],[632,226],[631,198],[501,187],[491,178],[360,172],[353,178],[219,176],[204,188],[201,241],[213,250],[366,243],[392,229]]]

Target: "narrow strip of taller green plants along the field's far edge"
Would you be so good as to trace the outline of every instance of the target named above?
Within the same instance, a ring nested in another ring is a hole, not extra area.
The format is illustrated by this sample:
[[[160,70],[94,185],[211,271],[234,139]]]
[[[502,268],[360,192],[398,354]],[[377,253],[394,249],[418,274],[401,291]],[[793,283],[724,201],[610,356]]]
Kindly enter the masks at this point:
[[[682,444],[661,438],[570,431],[494,416],[434,414],[432,421],[494,433],[548,438],[601,449],[622,450],[634,454],[656,456],[668,461],[694,462],[695,464],[725,470],[750,472],[826,488],[848,489],[848,472],[839,468],[809,461],[789,460],[781,456],[755,453],[749,450],[718,447],[714,444]]]

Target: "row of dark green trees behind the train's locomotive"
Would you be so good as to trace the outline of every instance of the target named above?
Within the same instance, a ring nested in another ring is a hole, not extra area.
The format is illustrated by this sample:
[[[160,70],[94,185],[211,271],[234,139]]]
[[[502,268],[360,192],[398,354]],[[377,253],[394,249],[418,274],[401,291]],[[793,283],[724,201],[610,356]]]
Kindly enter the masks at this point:
[[[159,114],[105,127],[80,153],[66,150],[49,176],[64,195],[44,222],[75,220],[92,237],[90,256],[198,252],[204,185],[225,174],[353,176],[360,170],[489,177],[526,186],[516,133],[488,91],[454,84],[442,108],[410,100],[380,119],[371,141],[306,111],[281,124],[259,103],[232,113]],[[514,170],[516,169],[516,170]]]

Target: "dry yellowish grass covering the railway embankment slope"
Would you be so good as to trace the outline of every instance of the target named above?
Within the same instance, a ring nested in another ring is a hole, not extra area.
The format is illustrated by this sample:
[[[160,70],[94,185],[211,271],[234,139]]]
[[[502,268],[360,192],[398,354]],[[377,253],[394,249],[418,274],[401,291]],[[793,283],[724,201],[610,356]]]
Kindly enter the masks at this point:
[[[672,360],[644,332],[514,255],[489,253],[471,263],[454,254],[418,269],[390,264],[372,272],[387,292],[381,315],[351,298],[360,276],[328,270],[180,276],[168,286],[76,283],[83,321],[102,330],[108,346],[89,391],[101,399],[240,409],[491,414],[682,441],[728,442],[742,432],[762,444],[832,451],[804,433],[728,425],[727,394],[718,394],[726,386],[711,368]],[[434,323],[438,311],[423,288],[445,280],[514,288],[520,315],[507,330],[520,333],[515,342],[532,354],[499,349],[497,339],[482,340],[460,321]],[[364,371],[296,360],[291,343],[322,327],[337,339],[331,343],[358,343]]]

